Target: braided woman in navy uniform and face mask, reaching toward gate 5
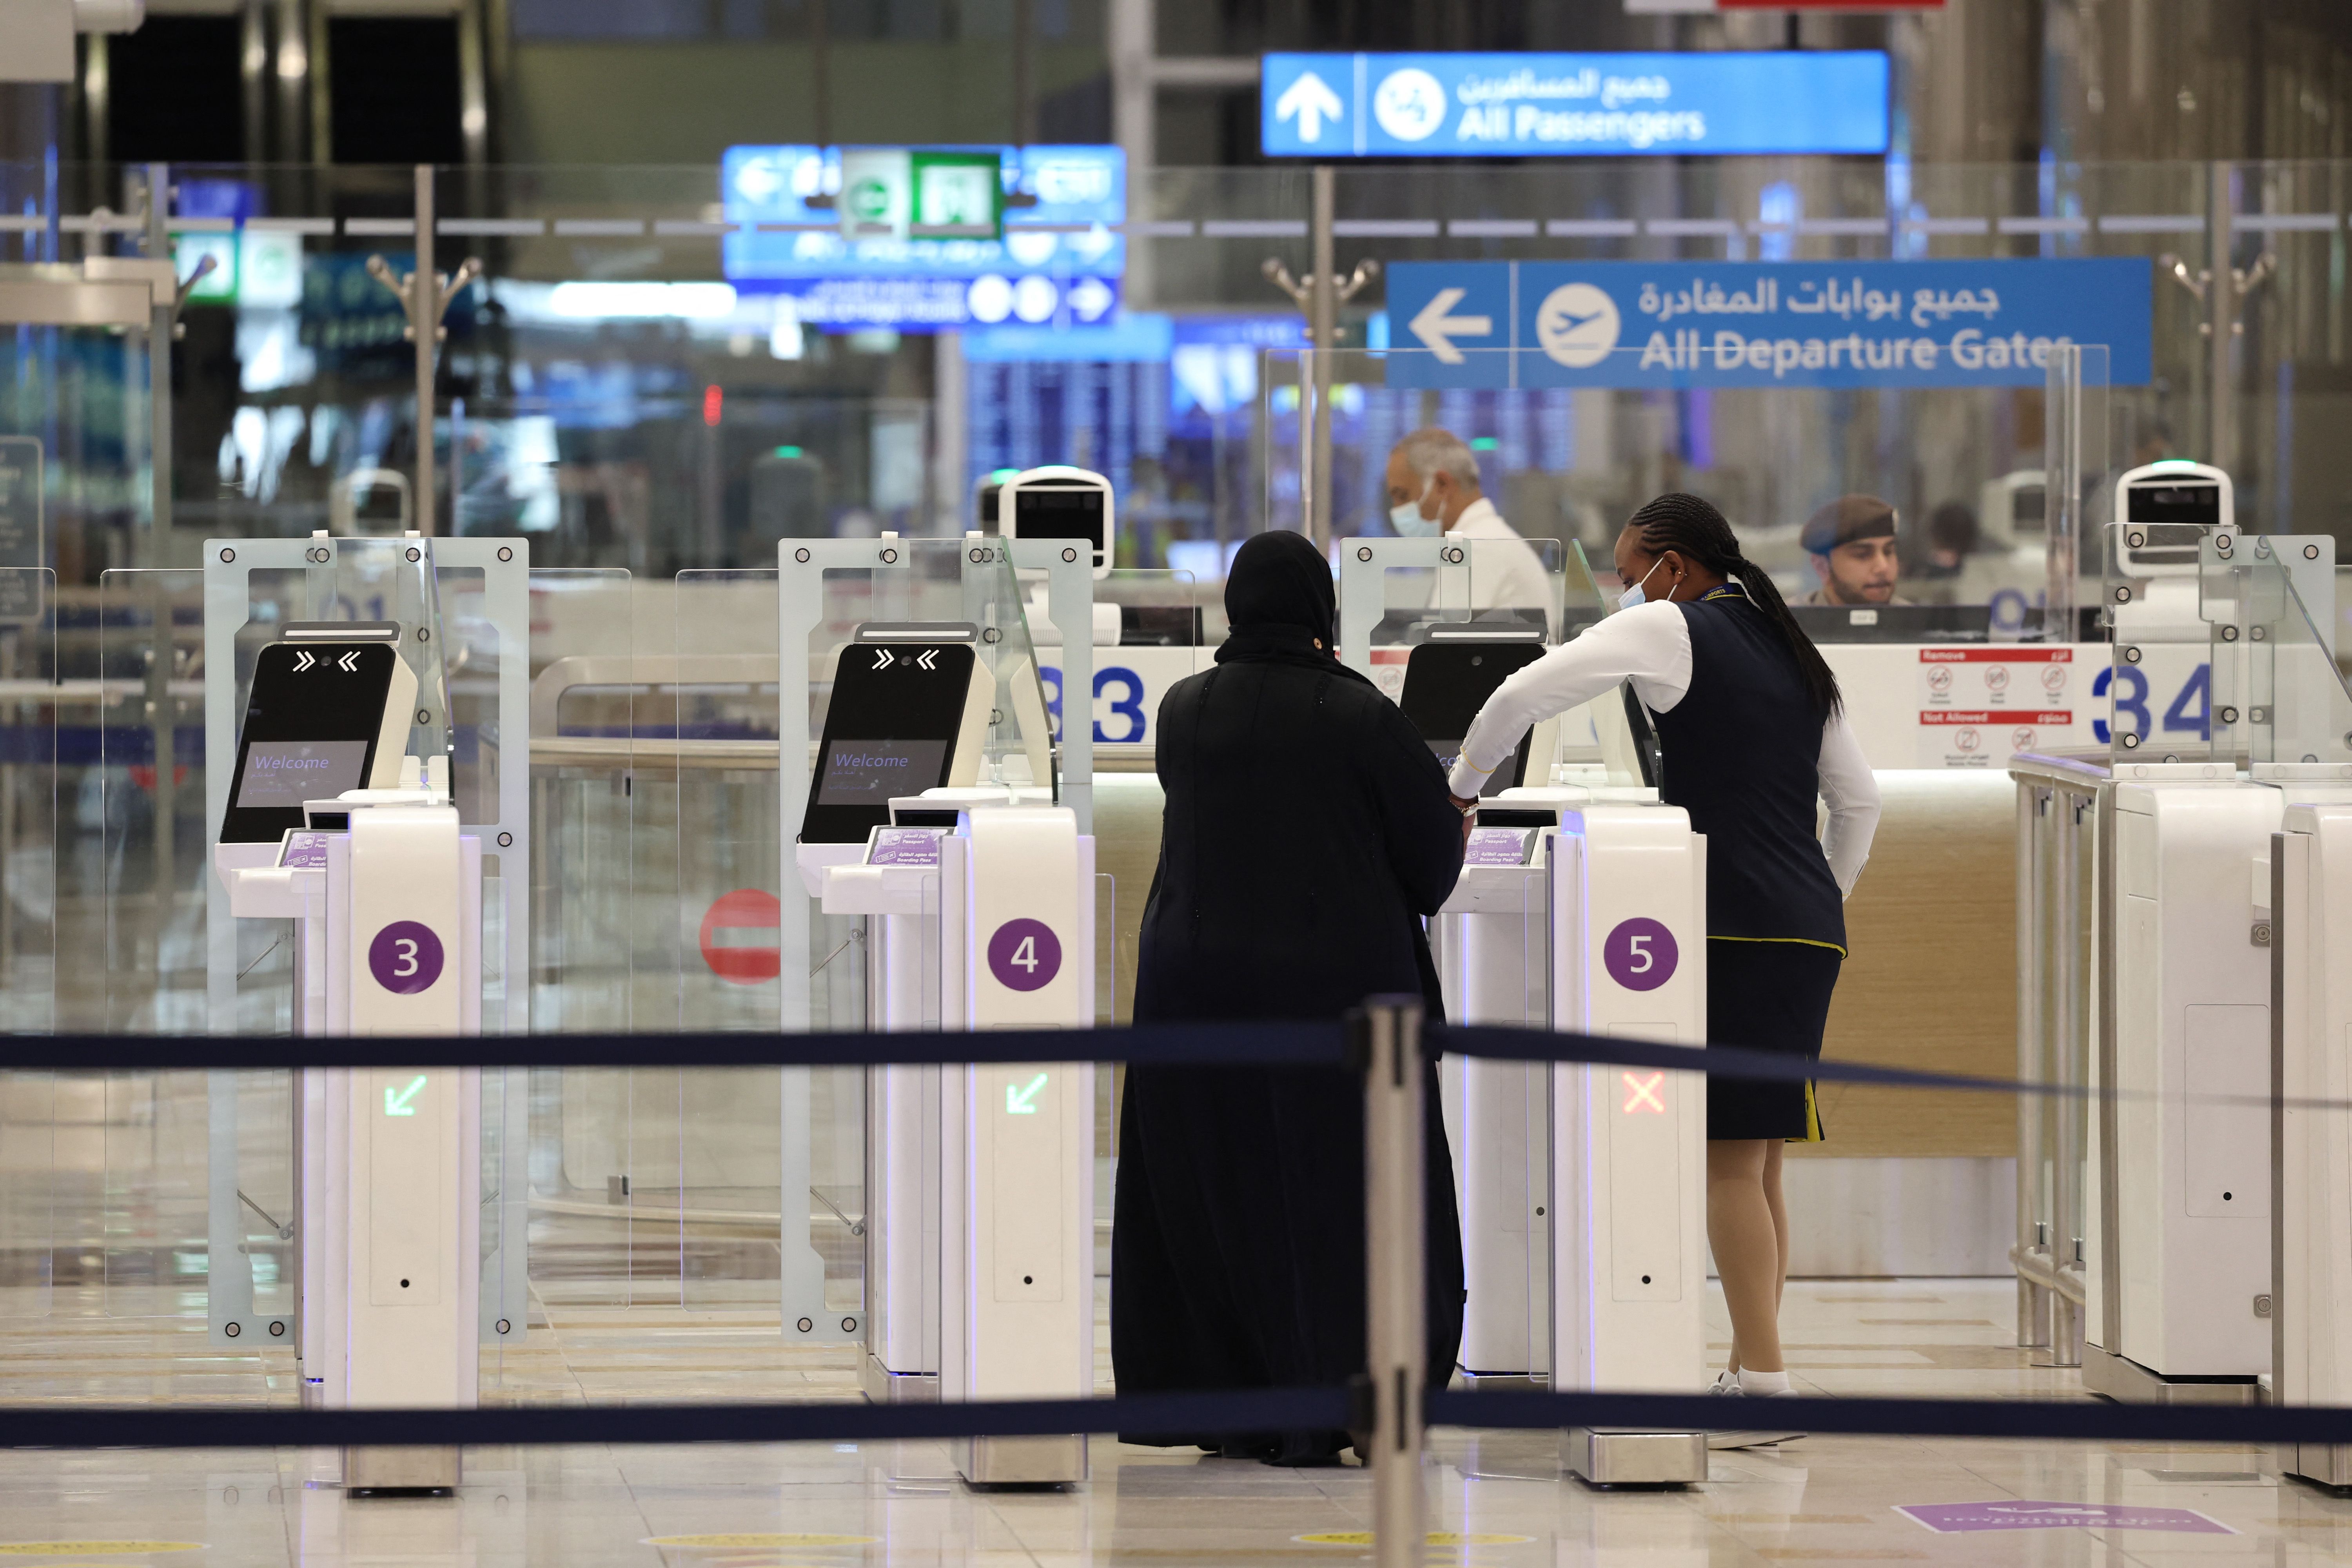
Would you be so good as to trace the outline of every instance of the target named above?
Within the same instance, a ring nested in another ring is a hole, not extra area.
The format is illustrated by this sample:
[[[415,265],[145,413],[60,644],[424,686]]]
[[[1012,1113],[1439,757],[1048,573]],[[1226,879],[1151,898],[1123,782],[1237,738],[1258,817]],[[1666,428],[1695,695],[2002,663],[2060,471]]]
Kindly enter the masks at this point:
[[[1708,1044],[1818,1060],[1846,957],[1842,900],[1879,820],[1837,677],[1698,496],[1635,512],[1616,569],[1623,609],[1486,698],[1454,766],[1454,804],[1475,804],[1529,724],[1632,682],[1658,729],[1661,795],[1708,835]],[[1830,802],[1828,842],[1813,837],[1816,795]],[[1708,1241],[1731,1307],[1717,1394],[1788,1392],[1780,1145],[1820,1135],[1809,1081],[1708,1079]]]

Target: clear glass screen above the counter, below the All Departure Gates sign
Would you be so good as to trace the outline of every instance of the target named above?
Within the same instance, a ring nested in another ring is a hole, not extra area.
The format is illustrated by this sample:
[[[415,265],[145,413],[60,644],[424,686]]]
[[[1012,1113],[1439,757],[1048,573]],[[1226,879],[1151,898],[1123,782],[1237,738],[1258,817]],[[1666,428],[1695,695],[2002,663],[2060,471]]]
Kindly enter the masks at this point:
[[[1722,508],[1748,559],[1771,574],[1816,642],[2044,637],[2053,581],[2042,456],[2049,343],[2016,367],[2006,343],[1997,367],[1983,364],[1983,346],[1964,343],[1969,362],[1955,369],[1947,343],[1917,339],[1929,348],[1915,350],[1905,336],[1903,353],[1931,355],[1926,367],[1886,376],[1893,386],[1853,386],[1842,383],[1853,378],[1844,336],[1830,343],[1839,367],[1828,364],[1823,341],[1757,339],[1719,355],[1712,341],[1686,341],[1691,331],[1672,343],[1653,334],[1649,348],[1625,346],[1630,336],[1632,327],[1623,327],[1616,348],[1562,350],[1569,357],[1404,346],[1272,355],[1279,381],[1265,400],[1275,475],[1268,517],[1303,527],[1305,508],[1289,498],[1312,489],[1322,374],[1331,425],[1324,515],[1334,538],[1395,536],[1392,451],[1414,430],[1442,428],[1470,447],[1479,501],[1545,552],[1550,574],[1581,552],[1590,588],[1569,595],[1564,630],[1599,618],[1625,588],[1611,564],[1623,520],[1651,496],[1682,489]],[[1783,348],[1790,353],[1776,360]],[[2091,442],[2079,477],[2096,508],[2114,473],[2105,444],[2107,357],[2100,346],[2079,353],[2086,367],[2070,388],[2089,390],[2067,397],[2084,400],[2074,418],[2089,435],[2077,437],[2072,425],[2065,433]],[[1938,386],[1943,378],[1973,386]],[[1898,430],[1915,435],[1896,440]],[[1842,498],[1877,512],[1856,527],[1835,510]],[[1475,522],[1470,534],[1482,529],[1491,524]],[[1503,548],[1508,536],[1489,541],[1491,555]],[[1432,578],[1425,595],[1399,592],[1442,607],[1449,590]],[[1491,597],[1463,581],[1456,597],[1468,604],[1482,592]]]

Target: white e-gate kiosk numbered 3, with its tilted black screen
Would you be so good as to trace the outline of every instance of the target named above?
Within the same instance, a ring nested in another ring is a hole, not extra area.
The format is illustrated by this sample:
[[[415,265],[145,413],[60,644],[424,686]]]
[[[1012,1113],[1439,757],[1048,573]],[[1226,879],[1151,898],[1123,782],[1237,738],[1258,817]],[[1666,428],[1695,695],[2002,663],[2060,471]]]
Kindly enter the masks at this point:
[[[482,844],[449,757],[407,752],[402,625],[289,623],[259,651],[214,870],[294,922],[296,1034],[482,1027]],[[440,701],[435,701],[435,708]],[[315,1408],[470,1408],[480,1389],[477,1067],[299,1074],[299,1366]],[[456,1448],[348,1448],[353,1490],[445,1490]]]

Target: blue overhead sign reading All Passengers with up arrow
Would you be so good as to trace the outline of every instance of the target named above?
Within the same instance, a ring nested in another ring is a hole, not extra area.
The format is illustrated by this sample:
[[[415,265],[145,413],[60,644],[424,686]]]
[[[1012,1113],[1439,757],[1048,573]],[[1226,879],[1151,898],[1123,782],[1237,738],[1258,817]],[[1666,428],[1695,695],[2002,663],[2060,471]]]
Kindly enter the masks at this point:
[[[1268,54],[1270,158],[1884,153],[1886,54]]]

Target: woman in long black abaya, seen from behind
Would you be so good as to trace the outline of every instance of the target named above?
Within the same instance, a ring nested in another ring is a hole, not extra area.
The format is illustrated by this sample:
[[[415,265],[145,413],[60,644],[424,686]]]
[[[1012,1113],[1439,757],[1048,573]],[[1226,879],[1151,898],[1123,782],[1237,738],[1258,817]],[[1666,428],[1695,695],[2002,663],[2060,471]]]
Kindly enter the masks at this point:
[[[1298,534],[1242,545],[1232,637],[1169,689],[1167,816],[1136,1023],[1338,1018],[1374,994],[1442,1016],[1421,919],[1461,872],[1461,813],[1404,712],[1334,656],[1331,569]],[[1428,1067],[1430,1382],[1463,1324],[1454,1164]],[[1122,1394],[1341,1385],[1364,1371],[1364,1093],[1338,1067],[1131,1067],[1110,1234]],[[1345,1432],[1200,1443],[1336,1462]]]

